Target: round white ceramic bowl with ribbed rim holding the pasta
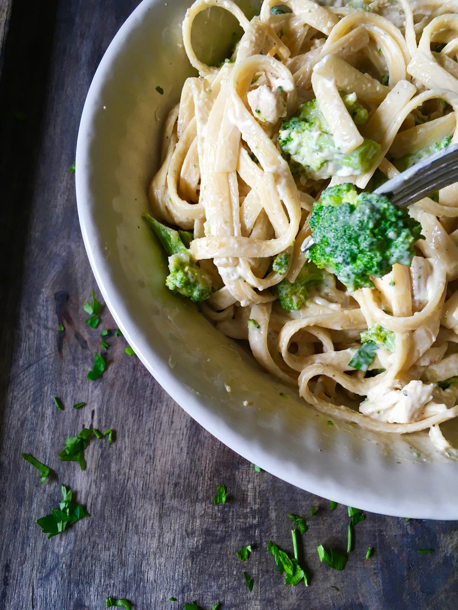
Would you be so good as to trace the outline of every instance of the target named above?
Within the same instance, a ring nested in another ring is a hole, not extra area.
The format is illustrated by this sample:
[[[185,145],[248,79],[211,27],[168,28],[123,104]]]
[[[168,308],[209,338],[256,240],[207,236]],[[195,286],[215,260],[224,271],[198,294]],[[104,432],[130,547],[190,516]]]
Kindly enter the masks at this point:
[[[107,306],[161,386],[244,458],[302,489],[367,511],[458,519],[458,466],[425,434],[328,425],[219,334],[194,304],[165,288],[165,258],[140,217],[148,210],[164,117],[192,73],[181,45],[190,4],[144,0],[107,49],[82,112],[78,213]],[[217,29],[203,24],[195,25],[202,30],[196,33],[209,44],[208,32]]]

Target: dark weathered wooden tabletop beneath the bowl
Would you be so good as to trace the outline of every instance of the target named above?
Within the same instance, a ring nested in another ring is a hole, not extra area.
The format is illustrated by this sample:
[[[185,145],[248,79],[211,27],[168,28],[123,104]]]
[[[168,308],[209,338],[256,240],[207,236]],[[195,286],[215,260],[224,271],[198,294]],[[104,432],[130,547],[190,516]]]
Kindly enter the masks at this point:
[[[103,379],[85,378],[100,329],[114,323],[106,309],[99,329],[84,323],[90,290],[100,294],[69,167],[96,66],[136,4],[12,2],[0,83],[0,609],[96,610],[107,595],[136,610],[181,610],[191,600],[204,610],[216,601],[227,610],[458,608],[456,523],[367,514],[336,572],[316,546],[345,550],[346,507],[331,512],[328,501],[256,473],[173,403],[122,337],[108,340]],[[87,405],[76,411],[79,401]],[[116,441],[92,442],[85,472],[59,462],[64,438],[90,425],[114,428]],[[56,478],[40,486],[21,451]],[[92,516],[47,540],[35,520],[57,508],[62,483]],[[230,494],[223,506],[213,505],[218,484]],[[307,515],[313,504],[302,537],[310,587],[285,586],[267,541],[290,550],[288,513]],[[247,544],[242,564],[235,553]]]

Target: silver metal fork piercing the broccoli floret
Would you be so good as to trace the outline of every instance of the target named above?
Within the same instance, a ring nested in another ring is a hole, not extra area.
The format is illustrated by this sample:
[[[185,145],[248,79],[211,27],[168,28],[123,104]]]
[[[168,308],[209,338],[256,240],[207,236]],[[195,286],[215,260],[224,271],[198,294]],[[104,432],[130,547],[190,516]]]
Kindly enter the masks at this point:
[[[374,190],[377,195],[385,195],[395,206],[409,206],[420,201],[439,188],[458,182],[458,144],[447,146],[440,152],[427,157],[402,171],[391,180]],[[307,237],[300,246],[307,252],[314,241]]]

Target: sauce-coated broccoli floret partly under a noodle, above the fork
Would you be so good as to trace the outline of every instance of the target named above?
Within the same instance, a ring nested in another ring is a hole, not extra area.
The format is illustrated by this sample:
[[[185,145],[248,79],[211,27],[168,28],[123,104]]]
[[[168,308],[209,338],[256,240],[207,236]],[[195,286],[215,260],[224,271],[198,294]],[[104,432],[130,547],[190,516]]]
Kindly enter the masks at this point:
[[[341,96],[355,123],[365,123],[368,112],[358,104],[356,94],[341,93]],[[349,154],[341,152],[316,99],[301,104],[294,117],[283,121],[278,143],[291,172],[314,179],[362,174],[371,167],[380,151],[377,142],[365,138]]]

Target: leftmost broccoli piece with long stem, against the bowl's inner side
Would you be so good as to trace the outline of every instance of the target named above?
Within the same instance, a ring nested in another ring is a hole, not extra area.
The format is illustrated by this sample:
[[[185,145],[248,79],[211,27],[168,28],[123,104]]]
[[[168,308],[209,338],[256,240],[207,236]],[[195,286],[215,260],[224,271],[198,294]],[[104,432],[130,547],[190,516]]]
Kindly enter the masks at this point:
[[[144,214],[143,219],[169,256],[170,274],[165,279],[167,288],[187,296],[191,301],[208,299],[211,295],[211,278],[191,260],[186,247],[191,243],[192,233],[170,229],[149,214]]]

